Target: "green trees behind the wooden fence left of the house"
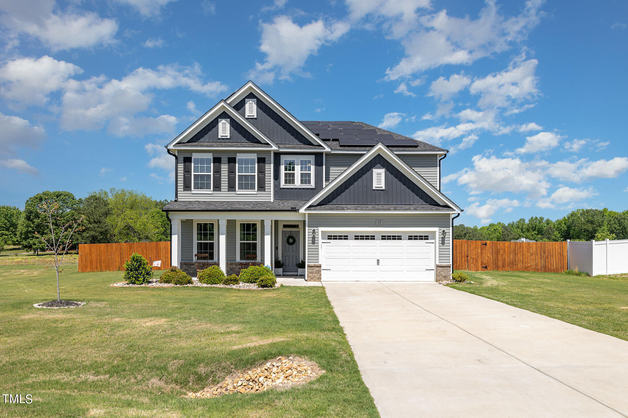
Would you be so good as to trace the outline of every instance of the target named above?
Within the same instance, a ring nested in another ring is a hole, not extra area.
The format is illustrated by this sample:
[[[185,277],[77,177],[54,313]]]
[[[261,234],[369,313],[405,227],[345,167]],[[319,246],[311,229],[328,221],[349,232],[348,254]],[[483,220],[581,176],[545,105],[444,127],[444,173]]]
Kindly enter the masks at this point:
[[[0,249],[18,245],[28,251],[45,250],[37,236],[46,233],[46,220],[37,210],[45,199],[53,199],[63,211],[83,216],[81,230],[72,239],[75,244],[170,241],[170,223],[161,211],[167,200],[156,201],[126,189],[99,190],[83,199],[70,192],[45,191],[30,197],[23,211],[0,206]]]

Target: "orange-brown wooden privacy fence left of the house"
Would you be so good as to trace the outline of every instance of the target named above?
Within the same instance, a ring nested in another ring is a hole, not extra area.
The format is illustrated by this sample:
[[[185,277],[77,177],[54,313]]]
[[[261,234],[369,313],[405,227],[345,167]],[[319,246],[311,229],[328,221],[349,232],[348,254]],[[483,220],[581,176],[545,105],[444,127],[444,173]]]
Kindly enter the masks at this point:
[[[161,267],[153,270],[170,268],[170,241],[159,243],[114,243],[114,244],[78,244],[78,271],[117,271],[124,269],[124,263],[131,254],[139,253],[148,260],[161,260]]]

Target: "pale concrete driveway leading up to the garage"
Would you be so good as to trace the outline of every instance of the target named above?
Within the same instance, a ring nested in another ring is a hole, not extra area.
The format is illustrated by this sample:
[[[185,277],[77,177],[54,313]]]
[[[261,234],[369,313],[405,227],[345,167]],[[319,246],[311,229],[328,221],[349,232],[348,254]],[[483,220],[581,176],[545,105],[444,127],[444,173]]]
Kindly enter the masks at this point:
[[[628,342],[436,283],[323,283],[388,417],[628,417]]]

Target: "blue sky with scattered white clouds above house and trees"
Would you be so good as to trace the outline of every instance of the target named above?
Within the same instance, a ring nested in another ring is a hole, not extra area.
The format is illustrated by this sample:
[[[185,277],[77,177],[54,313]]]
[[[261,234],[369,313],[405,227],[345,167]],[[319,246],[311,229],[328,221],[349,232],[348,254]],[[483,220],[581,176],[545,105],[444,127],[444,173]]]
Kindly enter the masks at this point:
[[[303,120],[451,150],[482,225],[628,209],[628,4],[0,2],[0,204],[123,187],[172,199],[163,145],[251,79]]]

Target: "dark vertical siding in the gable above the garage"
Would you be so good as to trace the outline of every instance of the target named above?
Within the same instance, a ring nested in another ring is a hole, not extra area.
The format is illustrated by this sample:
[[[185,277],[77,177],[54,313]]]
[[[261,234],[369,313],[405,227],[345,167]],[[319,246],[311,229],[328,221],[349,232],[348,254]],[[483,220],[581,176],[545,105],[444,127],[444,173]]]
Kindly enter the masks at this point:
[[[373,190],[373,169],[384,169],[384,190]],[[438,205],[413,180],[410,180],[382,155],[376,155],[345,179],[317,206],[328,204]]]

